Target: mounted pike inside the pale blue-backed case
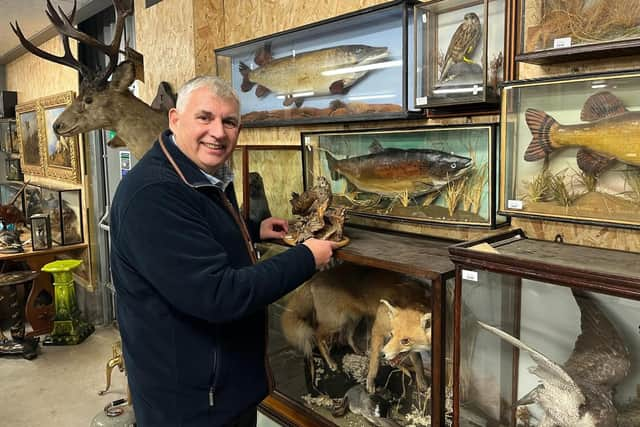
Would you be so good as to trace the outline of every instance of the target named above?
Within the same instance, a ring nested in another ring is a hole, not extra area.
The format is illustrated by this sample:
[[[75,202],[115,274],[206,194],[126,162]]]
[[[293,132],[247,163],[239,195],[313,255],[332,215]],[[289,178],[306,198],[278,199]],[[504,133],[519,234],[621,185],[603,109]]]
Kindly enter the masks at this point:
[[[258,68],[252,70],[240,62],[243,92],[248,92],[257,83],[256,96],[261,98],[269,92],[284,95],[285,106],[300,107],[303,96],[345,94],[351,86],[364,77],[368,70],[333,74],[335,70],[373,64],[389,56],[386,47],[366,45],[342,45],[312,50],[278,59],[271,58],[269,45],[256,54]]]

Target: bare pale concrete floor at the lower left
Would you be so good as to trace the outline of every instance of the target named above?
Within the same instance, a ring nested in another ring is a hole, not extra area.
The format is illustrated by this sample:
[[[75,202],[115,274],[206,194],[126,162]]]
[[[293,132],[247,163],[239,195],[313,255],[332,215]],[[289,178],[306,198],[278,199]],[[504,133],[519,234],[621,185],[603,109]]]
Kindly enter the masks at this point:
[[[88,427],[109,402],[125,397],[125,377],[118,369],[105,387],[105,366],[118,331],[99,327],[82,344],[42,347],[38,357],[0,357],[0,426]],[[259,414],[259,427],[278,424]]]

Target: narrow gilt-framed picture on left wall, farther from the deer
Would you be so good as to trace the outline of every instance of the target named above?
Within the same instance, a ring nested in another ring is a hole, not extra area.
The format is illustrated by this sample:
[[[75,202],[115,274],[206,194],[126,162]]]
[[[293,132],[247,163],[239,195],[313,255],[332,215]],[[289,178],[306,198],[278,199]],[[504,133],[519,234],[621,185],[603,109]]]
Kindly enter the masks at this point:
[[[18,140],[22,154],[22,171],[30,175],[45,175],[44,158],[40,150],[38,104],[30,101],[16,106]]]

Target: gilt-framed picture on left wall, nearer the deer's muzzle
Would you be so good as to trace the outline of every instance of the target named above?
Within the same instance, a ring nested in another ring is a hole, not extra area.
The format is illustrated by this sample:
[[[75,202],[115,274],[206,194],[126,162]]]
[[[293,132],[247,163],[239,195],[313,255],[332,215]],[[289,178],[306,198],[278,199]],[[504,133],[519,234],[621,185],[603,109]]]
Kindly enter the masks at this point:
[[[73,92],[64,92],[39,100],[42,108],[44,131],[43,153],[47,176],[71,182],[80,182],[78,137],[58,136],[53,123],[73,100]]]

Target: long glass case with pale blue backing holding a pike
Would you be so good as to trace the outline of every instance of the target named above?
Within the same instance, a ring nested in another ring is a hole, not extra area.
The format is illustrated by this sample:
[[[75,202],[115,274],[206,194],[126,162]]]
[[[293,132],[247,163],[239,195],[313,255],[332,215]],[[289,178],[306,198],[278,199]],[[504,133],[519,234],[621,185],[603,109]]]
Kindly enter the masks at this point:
[[[244,126],[420,116],[411,14],[394,1],[216,49],[217,73],[240,95]]]

